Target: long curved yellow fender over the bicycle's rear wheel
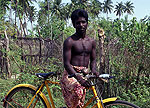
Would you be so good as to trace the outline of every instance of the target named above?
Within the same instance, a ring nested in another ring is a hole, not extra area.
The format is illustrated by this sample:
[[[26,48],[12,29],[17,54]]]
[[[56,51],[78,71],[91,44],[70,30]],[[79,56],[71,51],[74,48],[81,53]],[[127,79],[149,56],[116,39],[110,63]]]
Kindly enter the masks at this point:
[[[9,95],[9,93],[11,91],[13,91],[15,88],[18,88],[18,87],[28,87],[28,88],[31,88],[31,89],[33,89],[35,91],[37,89],[35,86],[33,86],[31,84],[18,84],[16,86],[14,86],[11,90],[9,90],[9,92],[7,93],[5,99],[7,98],[7,96]],[[51,108],[50,103],[49,103],[48,99],[46,98],[46,96],[42,92],[40,92],[39,94],[43,98],[43,100],[45,101],[47,108]],[[5,103],[5,101],[4,101],[4,103]]]

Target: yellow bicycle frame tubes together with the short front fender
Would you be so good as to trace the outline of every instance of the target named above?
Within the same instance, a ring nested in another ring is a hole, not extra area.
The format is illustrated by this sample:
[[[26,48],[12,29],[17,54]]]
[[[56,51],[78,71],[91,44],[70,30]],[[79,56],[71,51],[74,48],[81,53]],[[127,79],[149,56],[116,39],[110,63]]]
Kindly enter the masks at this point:
[[[46,86],[46,89],[47,89],[47,92],[48,92],[48,96],[49,96],[51,105],[50,105],[50,103],[49,103],[49,101],[48,101],[47,99],[45,99],[45,103],[46,103],[46,105],[47,105],[48,108],[55,108],[54,101],[53,101],[53,98],[52,98],[52,95],[51,95],[51,91],[50,91],[50,88],[49,88],[49,86],[48,86],[49,83],[60,85],[59,82],[54,82],[54,81],[45,80],[45,81],[37,88],[36,93],[35,93],[35,95],[33,96],[32,100],[31,100],[31,102],[29,103],[29,105],[28,105],[27,108],[30,107],[30,105],[31,105],[31,103],[33,102],[35,96],[36,96],[38,93],[41,93],[41,92],[42,92],[42,89],[43,89],[44,86]],[[115,100],[117,99],[117,98],[108,98],[108,99],[105,99],[105,100],[99,99],[99,97],[97,96],[97,92],[96,92],[95,86],[92,86],[90,89],[93,91],[94,96],[86,102],[86,104],[83,106],[83,108],[86,108],[86,107],[87,107],[90,103],[92,103],[93,100],[95,100],[95,99],[96,99],[97,102],[96,102],[96,104],[95,104],[92,108],[95,108],[95,107],[97,107],[97,108],[104,108],[103,103],[109,102],[109,101],[115,101]],[[36,103],[35,103],[35,104],[36,104]]]

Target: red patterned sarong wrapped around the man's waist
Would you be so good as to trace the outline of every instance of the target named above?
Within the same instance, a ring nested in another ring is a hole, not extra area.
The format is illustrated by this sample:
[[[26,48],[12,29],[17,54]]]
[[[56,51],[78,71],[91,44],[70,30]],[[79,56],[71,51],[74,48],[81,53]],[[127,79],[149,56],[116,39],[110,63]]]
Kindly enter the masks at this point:
[[[73,66],[77,72],[86,67]],[[78,70],[77,70],[77,69]],[[84,105],[86,89],[74,78],[68,78],[68,73],[65,70],[61,79],[62,94],[68,108],[82,108]]]

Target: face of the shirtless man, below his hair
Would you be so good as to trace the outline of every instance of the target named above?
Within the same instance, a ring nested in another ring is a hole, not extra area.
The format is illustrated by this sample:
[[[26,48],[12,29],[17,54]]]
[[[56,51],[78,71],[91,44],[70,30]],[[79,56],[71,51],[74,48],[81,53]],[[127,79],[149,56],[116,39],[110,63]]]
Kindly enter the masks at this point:
[[[79,17],[77,20],[75,20],[74,27],[76,28],[76,32],[79,34],[86,33],[87,26],[88,23],[84,17]]]

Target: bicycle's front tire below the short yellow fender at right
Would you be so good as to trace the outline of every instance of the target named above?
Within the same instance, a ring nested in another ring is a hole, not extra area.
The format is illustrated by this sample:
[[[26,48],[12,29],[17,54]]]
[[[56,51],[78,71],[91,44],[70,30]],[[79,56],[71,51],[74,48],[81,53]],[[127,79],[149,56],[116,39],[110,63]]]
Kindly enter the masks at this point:
[[[122,101],[122,100],[106,102],[104,103],[104,106],[105,108],[140,108],[130,102]]]

